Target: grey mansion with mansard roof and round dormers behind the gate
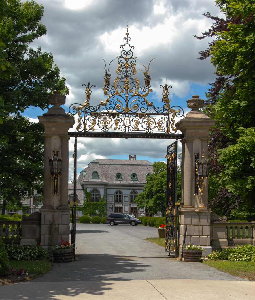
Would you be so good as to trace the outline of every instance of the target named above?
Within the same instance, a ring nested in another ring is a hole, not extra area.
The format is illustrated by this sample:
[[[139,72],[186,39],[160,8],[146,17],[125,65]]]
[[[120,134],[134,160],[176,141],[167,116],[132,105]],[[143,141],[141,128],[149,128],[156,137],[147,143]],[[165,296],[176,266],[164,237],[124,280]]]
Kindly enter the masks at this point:
[[[86,200],[84,191],[87,189],[91,201],[98,202],[101,197],[107,200],[107,214],[122,212],[135,217],[149,215],[144,208],[137,209],[134,200],[152,173],[152,163],[136,160],[136,155],[129,155],[129,159],[95,159],[79,174],[77,206],[83,205]],[[73,201],[73,184],[69,184],[69,201]],[[77,211],[79,213],[81,211]]]

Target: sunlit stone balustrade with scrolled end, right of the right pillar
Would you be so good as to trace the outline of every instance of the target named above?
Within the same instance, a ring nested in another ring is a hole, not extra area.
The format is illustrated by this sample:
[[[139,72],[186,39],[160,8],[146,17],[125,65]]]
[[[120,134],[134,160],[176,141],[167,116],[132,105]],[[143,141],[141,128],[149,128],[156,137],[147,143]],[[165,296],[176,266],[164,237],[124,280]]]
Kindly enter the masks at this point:
[[[255,221],[227,222],[226,217],[211,214],[211,245],[213,249],[232,245],[251,244],[255,246]]]

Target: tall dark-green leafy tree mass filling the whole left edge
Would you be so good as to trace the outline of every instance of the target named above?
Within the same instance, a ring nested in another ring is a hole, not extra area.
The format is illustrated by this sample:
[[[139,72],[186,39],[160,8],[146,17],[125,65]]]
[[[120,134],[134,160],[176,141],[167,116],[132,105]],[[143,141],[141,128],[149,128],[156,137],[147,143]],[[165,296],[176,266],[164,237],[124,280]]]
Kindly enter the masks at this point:
[[[51,53],[29,45],[46,34],[43,6],[0,0],[0,182],[2,214],[8,202],[21,205],[42,191],[43,129],[21,116],[28,107],[48,107],[54,90],[68,94]]]

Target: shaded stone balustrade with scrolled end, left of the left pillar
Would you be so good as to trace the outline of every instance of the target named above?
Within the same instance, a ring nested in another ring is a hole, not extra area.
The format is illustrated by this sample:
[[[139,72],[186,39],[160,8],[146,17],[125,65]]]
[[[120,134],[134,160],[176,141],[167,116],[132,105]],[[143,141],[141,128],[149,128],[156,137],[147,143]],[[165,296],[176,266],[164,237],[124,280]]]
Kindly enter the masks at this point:
[[[39,245],[41,242],[41,213],[36,211],[28,217],[23,215],[21,221],[0,221],[0,236],[4,244]]]

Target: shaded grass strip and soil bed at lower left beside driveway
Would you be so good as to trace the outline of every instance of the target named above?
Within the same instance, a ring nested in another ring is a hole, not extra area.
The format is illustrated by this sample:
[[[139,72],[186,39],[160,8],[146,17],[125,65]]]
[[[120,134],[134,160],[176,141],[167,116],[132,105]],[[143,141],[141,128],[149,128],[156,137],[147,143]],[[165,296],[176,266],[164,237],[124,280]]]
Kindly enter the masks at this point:
[[[46,260],[36,260],[36,261],[27,261],[27,260],[9,260],[10,268],[13,267],[15,270],[24,268],[27,270],[28,274],[9,274],[0,277],[1,284],[16,283],[20,281],[26,281],[34,279],[38,276],[46,274],[50,269],[52,262]]]

